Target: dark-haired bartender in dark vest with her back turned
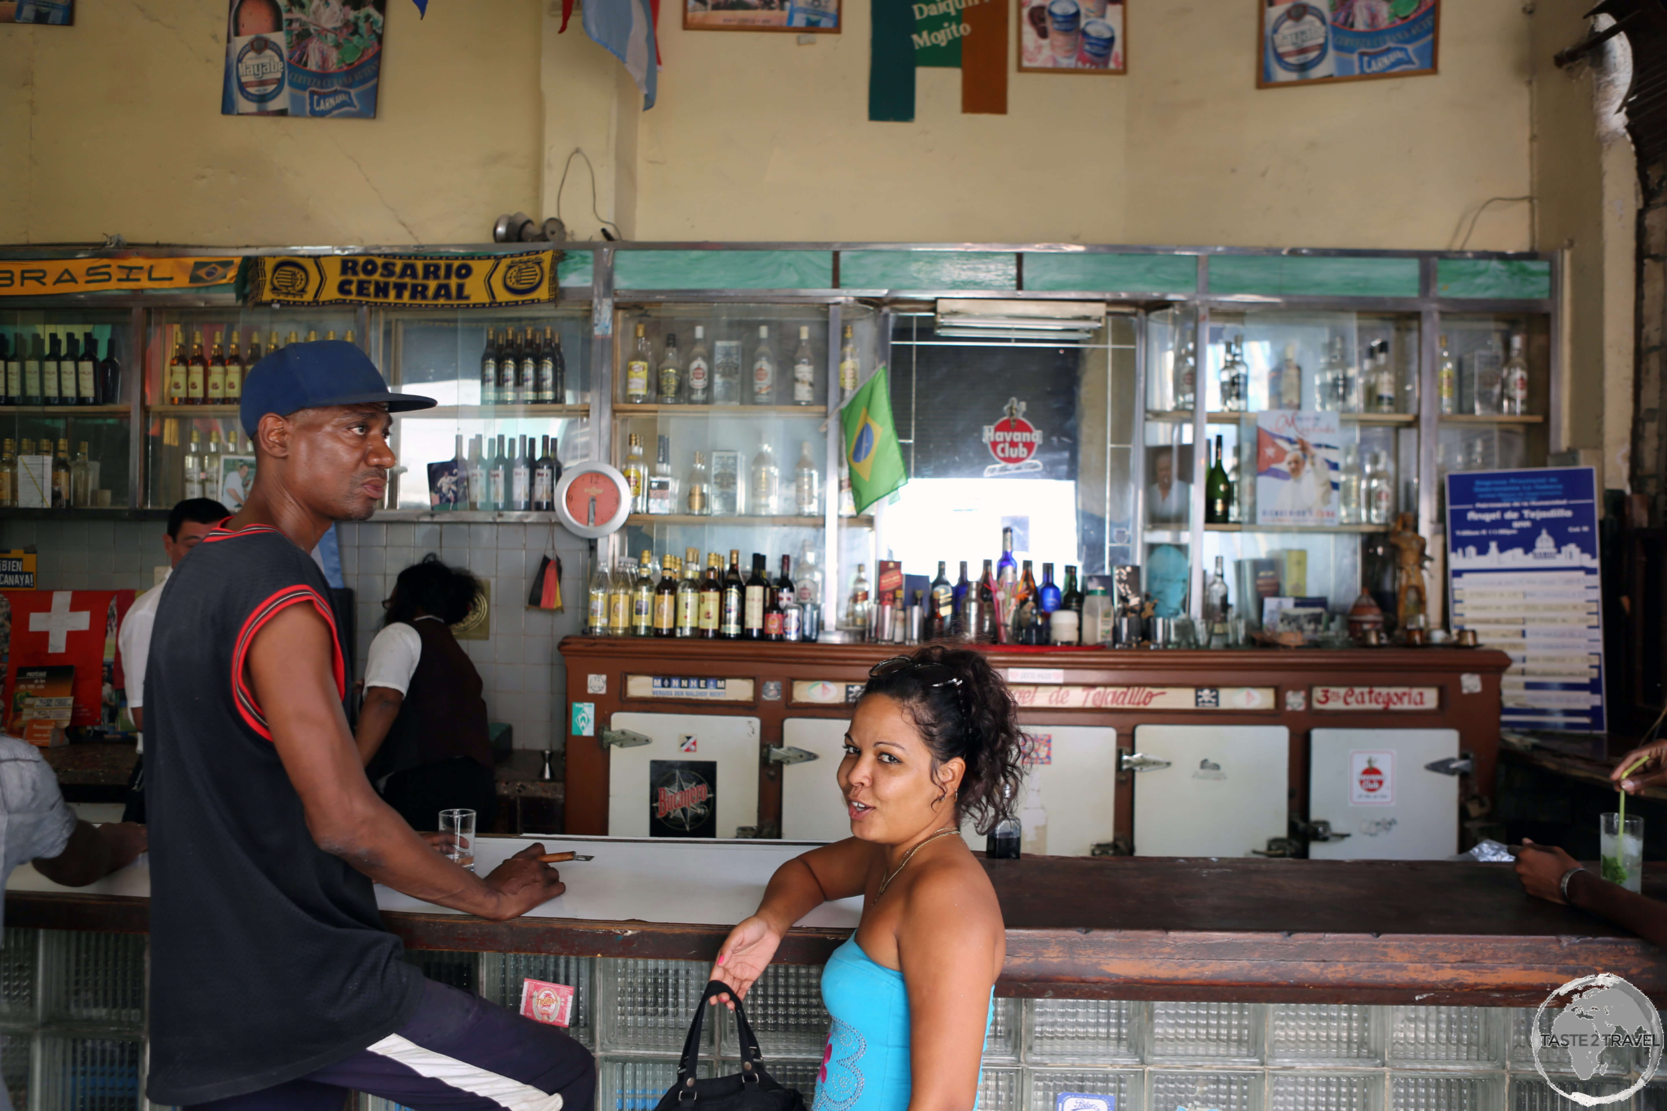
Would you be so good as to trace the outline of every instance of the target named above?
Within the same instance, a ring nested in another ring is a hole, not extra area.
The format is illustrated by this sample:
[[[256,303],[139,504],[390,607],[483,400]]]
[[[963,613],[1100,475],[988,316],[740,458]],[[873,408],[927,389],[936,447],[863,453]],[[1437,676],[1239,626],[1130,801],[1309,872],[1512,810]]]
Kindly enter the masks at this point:
[[[473,810],[492,828],[497,788],[480,673],[452,628],[468,616],[480,580],[433,555],[400,571],[370,641],[358,756],[382,798],[413,830],[442,810]]]

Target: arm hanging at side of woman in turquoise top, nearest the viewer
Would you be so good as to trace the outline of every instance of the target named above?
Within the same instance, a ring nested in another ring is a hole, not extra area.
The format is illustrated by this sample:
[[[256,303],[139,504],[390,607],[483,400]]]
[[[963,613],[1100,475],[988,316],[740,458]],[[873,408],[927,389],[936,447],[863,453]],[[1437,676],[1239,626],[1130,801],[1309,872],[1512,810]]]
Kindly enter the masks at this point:
[[[972,1111],[1004,951],[1002,911],[957,868],[922,874],[909,889],[897,958],[909,991],[909,1111]]]

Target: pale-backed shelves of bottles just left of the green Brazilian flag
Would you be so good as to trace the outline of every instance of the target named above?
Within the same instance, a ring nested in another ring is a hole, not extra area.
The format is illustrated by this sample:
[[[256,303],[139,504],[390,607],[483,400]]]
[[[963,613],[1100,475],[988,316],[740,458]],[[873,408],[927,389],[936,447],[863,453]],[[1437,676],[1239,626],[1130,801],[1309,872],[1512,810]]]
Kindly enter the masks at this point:
[[[615,565],[640,566],[647,551],[660,575],[667,556],[687,565],[693,550],[697,571],[715,558],[722,576],[735,551],[742,578],[757,555],[773,581],[785,560],[795,595],[822,606],[847,533],[854,558],[870,560],[872,518],[845,506],[834,541],[825,536],[828,498],[839,508],[840,495],[839,481],[828,483],[839,458],[830,381],[837,388],[844,373],[854,388],[872,373],[879,316],[840,306],[830,343],[830,311],[818,303],[618,310],[612,443],[633,505]]]

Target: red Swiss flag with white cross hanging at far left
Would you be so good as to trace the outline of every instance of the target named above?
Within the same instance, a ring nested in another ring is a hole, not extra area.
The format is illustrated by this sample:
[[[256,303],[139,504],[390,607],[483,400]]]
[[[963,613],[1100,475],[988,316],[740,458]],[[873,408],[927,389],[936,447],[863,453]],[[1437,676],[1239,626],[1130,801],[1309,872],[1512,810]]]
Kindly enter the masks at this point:
[[[132,590],[35,590],[8,591],[12,640],[5,670],[5,716],[12,716],[12,695],[18,668],[75,666],[75,715],[72,726],[103,720],[105,658],[108,683],[122,686],[115,631],[133,605]]]

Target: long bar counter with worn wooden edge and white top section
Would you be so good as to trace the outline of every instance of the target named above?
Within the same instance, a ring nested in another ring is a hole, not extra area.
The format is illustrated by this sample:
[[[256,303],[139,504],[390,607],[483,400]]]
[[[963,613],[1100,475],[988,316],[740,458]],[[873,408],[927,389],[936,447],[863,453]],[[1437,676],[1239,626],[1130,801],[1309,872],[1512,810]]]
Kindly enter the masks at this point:
[[[527,839],[482,838],[487,869]],[[407,946],[473,953],[710,961],[763,881],[802,844],[547,838],[593,853],[568,891],[488,923],[378,888]],[[1667,1003],[1667,953],[1522,894],[1509,864],[1300,859],[1027,858],[985,861],[1007,919],[997,994],[1085,999],[1535,1006],[1599,971]],[[1645,893],[1667,896],[1667,876]],[[70,891],[20,868],[7,924],[143,933],[148,864]],[[857,921],[815,911],[777,956],[815,964]]]

